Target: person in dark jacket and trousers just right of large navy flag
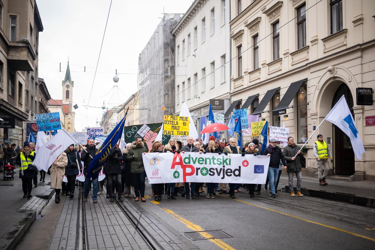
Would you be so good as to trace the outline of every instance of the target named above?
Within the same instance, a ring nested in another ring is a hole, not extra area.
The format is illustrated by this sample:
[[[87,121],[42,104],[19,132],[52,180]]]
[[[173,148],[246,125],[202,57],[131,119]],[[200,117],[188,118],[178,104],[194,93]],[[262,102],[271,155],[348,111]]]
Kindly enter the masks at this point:
[[[115,146],[112,149],[111,154],[107,157],[107,164],[106,164],[106,176],[107,178],[107,193],[110,195],[110,202],[114,202],[114,199],[116,199],[116,195],[113,192],[113,182],[115,181],[115,184],[117,185],[117,199],[120,202],[123,202],[124,199],[122,199],[121,196],[121,166],[120,161],[123,160],[123,156],[121,155],[120,149],[117,149],[117,146]]]

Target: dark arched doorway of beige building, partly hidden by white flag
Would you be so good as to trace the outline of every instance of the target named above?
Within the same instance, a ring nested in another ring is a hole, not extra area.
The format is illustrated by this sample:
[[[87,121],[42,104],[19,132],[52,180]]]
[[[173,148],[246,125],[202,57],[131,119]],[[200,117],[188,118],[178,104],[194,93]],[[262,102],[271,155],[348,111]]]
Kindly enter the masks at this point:
[[[348,103],[349,109],[353,113],[353,96],[347,84],[342,83],[333,95],[332,107],[344,95]],[[333,150],[335,155],[335,174],[336,175],[353,175],[354,170],[354,151],[350,142],[350,138],[342,132],[341,129],[333,125]]]

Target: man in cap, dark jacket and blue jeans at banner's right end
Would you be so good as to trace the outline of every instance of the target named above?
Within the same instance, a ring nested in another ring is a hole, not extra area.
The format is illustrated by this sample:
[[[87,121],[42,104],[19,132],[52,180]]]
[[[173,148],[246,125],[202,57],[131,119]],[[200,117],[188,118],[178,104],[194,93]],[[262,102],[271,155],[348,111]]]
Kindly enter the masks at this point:
[[[270,194],[272,198],[276,198],[276,182],[279,176],[279,164],[280,160],[282,161],[284,167],[287,166],[287,162],[285,161],[284,155],[282,154],[281,149],[276,145],[276,139],[271,138],[270,144],[264,150],[264,155],[270,157],[270,164],[268,168],[268,177],[270,179]]]

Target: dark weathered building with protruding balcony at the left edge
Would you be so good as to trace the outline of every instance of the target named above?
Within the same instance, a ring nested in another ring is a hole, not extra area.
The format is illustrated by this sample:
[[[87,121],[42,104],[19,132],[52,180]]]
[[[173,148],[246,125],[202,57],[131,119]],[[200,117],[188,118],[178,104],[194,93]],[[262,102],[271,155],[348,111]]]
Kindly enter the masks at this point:
[[[34,0],[0,0],[0,142],[22,146],[25,122],[39,112],[38,46],[42,21]]]

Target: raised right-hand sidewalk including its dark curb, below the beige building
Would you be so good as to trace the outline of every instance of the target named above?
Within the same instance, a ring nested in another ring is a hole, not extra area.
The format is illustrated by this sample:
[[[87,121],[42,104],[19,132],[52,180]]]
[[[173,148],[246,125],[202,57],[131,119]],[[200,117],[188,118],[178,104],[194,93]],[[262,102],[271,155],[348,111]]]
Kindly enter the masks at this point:
[[[290,192],[287,176],[281,175],[280,183],[285,184],[285,192]],[[375,207],[375,181],[350,181],[328,177],[327,183],[328,185],[321,186],[318,178],[302,177],[301,192],[323,199]],[[296,176],[293,178],[293,184],[296,191]]]

